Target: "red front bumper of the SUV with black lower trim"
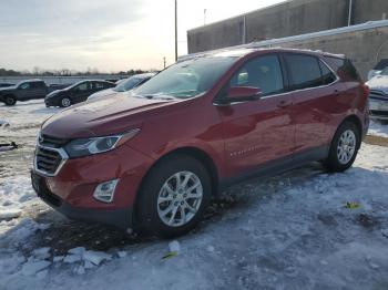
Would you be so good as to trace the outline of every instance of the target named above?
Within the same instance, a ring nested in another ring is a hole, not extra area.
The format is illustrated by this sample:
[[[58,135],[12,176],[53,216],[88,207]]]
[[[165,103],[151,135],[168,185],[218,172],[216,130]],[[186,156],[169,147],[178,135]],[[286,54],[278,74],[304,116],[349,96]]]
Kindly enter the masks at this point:
[[[35,168],[31,180],[38,196],[70,219],[132,228],[132,208],[140,184],[153,160],[125,144],[82,158],[67,159],[53,176]],[[120,179],[112,203],[93,197],[99,184]]]

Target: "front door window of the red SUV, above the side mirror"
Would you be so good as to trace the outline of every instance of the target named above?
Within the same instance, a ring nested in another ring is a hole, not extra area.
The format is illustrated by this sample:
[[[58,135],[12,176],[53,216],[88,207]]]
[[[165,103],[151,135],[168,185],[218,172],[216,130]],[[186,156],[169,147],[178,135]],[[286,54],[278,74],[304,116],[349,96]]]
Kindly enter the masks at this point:
[[[262,90],[262,95],[283,92],[283,75],[277,55],[259,56],[248,61],[232,77],[229,86],[258,87]]]

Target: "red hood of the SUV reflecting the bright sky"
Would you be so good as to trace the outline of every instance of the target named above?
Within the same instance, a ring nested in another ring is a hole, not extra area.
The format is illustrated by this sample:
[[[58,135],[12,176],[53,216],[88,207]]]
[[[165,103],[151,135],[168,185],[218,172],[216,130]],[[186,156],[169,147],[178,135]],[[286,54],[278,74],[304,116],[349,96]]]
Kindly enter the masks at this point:
[[[145,114],[177,102],[116,94],[63,110],[43,123],[42,134],[60,138],[120,134],[141,127]]]

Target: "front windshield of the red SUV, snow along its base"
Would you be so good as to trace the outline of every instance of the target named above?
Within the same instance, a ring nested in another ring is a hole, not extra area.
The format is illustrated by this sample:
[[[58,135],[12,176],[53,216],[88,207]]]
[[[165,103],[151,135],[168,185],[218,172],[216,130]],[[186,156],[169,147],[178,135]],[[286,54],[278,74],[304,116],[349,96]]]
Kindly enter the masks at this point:
[[[236,58],[201,58],[176,63],[133,91],[134,95],[190,99],[207,92]]]

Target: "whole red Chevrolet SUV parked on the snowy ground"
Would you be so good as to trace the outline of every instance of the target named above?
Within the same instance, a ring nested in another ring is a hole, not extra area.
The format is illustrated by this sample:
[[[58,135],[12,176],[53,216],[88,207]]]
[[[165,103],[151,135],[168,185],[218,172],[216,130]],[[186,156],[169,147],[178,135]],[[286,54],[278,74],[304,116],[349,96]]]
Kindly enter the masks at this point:
[[[45,121],[32,184],[72,219],[182,235],[236,182],[314,160],[350,167],[369,124],[367,96],[339,55],[242,49],[187,58],[131,93]]]

